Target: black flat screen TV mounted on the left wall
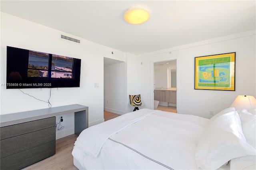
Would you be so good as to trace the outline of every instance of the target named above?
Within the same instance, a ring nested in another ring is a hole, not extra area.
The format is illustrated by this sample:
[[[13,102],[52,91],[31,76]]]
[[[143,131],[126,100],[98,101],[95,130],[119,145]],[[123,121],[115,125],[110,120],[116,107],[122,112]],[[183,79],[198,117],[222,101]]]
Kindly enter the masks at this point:
[[[7,89],[80,87],[81,59],[7,46]]]

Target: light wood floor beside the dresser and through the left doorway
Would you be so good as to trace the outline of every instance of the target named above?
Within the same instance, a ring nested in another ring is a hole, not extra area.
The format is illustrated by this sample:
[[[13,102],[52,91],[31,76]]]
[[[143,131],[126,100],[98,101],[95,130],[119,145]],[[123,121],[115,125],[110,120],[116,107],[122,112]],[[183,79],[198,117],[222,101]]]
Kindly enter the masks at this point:
[[[105,121],[118,116],[120,115],[104,111]],[[72,134],[56,140],[56,154],[54,156],[27,166],[23,170],[78,170],[73,164],[71,154],[76,138],[76,134]]]

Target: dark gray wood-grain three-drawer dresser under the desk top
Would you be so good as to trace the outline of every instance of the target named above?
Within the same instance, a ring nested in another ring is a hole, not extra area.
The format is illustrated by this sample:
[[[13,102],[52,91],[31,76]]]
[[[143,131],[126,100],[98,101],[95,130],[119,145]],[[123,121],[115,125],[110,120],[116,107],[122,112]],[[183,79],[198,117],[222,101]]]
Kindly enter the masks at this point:
[[[1,170],[18,170],[55,154],[56,117],[0,128]]]

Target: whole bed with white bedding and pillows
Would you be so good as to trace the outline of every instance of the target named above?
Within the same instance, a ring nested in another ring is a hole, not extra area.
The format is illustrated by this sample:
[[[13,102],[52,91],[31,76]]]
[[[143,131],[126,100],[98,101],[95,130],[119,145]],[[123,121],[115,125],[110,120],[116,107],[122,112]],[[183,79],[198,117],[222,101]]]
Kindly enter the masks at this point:
[[[89,127],[72,155],[82,169],[256,169],[256,109],[211,119],[151,109]]]

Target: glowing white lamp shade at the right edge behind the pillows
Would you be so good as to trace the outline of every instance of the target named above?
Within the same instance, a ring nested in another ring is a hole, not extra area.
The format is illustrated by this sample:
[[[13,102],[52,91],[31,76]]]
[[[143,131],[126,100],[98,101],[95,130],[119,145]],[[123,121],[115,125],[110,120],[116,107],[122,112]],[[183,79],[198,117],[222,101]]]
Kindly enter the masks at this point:
[[[256,109],[256,99],[253,96],[238,96],[230,107],[239,109],[246,109],[248,111]]]

